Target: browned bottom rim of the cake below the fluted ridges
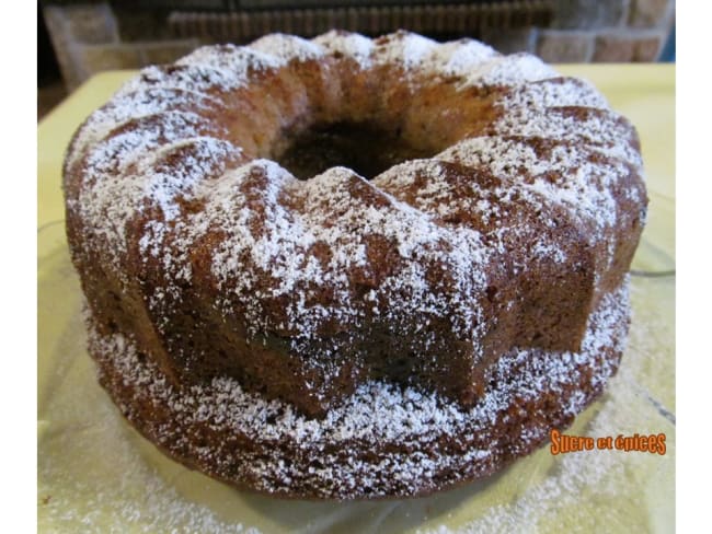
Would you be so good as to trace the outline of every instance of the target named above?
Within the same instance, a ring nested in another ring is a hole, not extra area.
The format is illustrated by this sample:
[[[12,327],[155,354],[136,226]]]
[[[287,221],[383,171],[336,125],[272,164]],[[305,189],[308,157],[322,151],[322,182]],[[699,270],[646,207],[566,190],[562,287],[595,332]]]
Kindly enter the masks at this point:
[[[130,338],[102,336],[91,318],[90,352],[126,418],[191,468],[277,497],[417,497],[491,475],[571,425],[618,369],[628,315],[624,287],[602,299],[579,351],[509,351],[469,409],[375,381],[322,420],[231,379],[173,387]]]

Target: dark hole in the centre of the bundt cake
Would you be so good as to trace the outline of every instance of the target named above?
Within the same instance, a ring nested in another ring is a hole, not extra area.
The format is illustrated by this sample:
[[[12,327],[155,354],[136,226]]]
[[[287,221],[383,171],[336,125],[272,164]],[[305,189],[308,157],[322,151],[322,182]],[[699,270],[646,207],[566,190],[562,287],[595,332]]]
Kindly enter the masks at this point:
[[[399,131],[367,123],[314,125],[294,136],[277,162],[299,179],[333,166],[345,166],[367,179],[407,160],[429,158],[433,151],[404,141]]]

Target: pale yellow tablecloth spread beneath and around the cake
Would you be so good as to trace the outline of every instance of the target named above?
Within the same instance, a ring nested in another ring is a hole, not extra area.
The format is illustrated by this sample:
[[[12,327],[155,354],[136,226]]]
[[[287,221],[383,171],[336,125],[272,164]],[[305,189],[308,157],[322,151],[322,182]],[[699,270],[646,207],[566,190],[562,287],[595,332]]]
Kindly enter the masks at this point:
[[[561,66],[638,127],[650,218],[636,271],[675,268],[675,68]],[[38,126],[38,483],[42,532],[669,532],[675,521],[675,277],[634,276],[617,376],[569,433],[665,433],[665,455],[547,448],[484,483],[404,501],[311,503],[239,492],[158,453],[99,387],[64,233],[60,173],[79,124],[133,76],[92,78]]]

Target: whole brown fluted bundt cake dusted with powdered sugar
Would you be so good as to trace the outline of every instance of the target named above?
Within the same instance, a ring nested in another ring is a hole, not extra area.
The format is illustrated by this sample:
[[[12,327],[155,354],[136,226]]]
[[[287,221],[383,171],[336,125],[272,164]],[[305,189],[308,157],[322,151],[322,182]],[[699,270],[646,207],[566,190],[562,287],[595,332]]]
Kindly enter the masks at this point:
[[[298,498],[499,469],[617,370],[638,136],[527,54],[267,35],[148,67],[64,167],[90,353],[180,462]]]

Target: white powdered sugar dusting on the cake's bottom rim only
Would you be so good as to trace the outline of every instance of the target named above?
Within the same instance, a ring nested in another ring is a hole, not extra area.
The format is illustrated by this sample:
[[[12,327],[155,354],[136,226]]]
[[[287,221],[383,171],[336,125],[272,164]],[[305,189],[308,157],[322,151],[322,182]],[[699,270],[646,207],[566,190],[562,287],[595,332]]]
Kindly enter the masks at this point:
[[[148,425],[147,431],[170,450],[188,448],[192,456],[205,463],[204,467],[213,466],[210,471],[218,475],[227,476],[223,469],[238,463],[240,471],[229,471],[230,478],[236,483],[251,480],[257,489],[268,492],[296,490],[348,498],[359,495],[364,481],[371,480],[374,488],[388,491],[395,486],[398,494],[410,495],[430,487],[434,480],[441,485],[445,473],[456,477],[449,479],[453,483],[464,474],[486,472],[503,451],[471,448],[451,454],[440,450],[438,443],[467,431],[489,446],[496,446],[496,440],[487,439],[489,429],[509,417],[515,398],[526,402],[542,392],[563,395],[571,381],[577,383],[582,370],[592,373],[592,386],[605,383],[617,360],[604,357],[601,350],[621,349],[627,295],[625,286],[604,299],[592,315],[581,352],[537,351],[532,358],[530,351],[514,350],[503,357],[497,379],[469,410],[433,393],[369,382],[342,407],[330,410],[325,419],[307,419],[291,405],[245,393],[237,381],[227,378],[177,391],[152,363],[139,358],[131,340],[120,334],[103,337],[92,330],[90,345],[102,372],[117,373],[106,375],[118,381],[113,387],[129,387],[137,395],[124,406],[129,419],[136,417],[133,403],[157,403],[160,409],[169,409],[173,421],[170,427],[135,422]],[[564,414],[574,415],[590,400],[584,395],[566,395]],[[196,446],[190,429],[198,427],[244,437],[259,452],[237,446]],[[520,440],[507,445],[512,448],[508,452],[527,450],[530,440],[541,441],[547,431],[529,428]],[[285,449],[291,448],[301,453],[288,452],[289,463],[280,461]],[[371,460],[363,455],[366,451],[374,455]],[[371,494],[378,495],[378,489]]]

